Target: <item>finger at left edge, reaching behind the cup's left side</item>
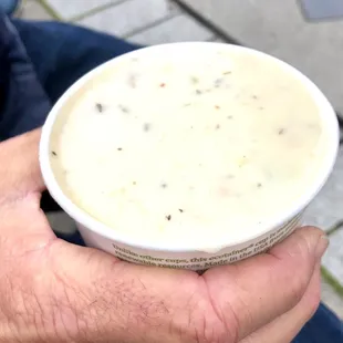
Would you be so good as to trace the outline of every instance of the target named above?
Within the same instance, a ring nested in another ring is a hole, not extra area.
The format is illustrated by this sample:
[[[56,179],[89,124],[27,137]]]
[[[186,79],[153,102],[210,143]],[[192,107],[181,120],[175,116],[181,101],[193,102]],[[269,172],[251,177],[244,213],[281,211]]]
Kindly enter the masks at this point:
[[[41,131],[35,129],[0,144],[0,202],[41,191],[39,166]]]

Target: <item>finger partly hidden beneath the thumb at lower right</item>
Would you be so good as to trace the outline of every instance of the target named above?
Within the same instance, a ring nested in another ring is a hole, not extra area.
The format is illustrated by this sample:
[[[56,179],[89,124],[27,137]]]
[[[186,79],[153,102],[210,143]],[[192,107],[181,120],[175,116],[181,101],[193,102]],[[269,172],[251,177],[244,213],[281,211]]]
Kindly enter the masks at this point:
[[[320,264],[318,264],[299,304],[240,343],[290,343],[319,306],[320,279]]]

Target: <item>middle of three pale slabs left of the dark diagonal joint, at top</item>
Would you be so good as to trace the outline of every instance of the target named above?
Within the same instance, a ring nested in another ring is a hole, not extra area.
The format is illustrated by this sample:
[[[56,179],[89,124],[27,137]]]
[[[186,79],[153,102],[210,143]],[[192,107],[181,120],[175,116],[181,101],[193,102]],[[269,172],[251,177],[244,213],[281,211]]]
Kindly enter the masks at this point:
[[[79,24],[118,37],[139,30],[179,13],[168,0],[126,0],[102,12],[86,17]]]

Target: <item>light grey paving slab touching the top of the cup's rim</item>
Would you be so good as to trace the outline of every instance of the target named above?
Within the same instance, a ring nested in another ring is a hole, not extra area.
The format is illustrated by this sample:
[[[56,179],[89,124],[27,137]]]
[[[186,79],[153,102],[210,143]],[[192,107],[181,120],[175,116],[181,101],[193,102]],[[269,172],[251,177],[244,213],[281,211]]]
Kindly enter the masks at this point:
[[[178,14],[147,30],[127,37],[129,41],[145,45],[207,41],[212,38],[214,33],[210,30],[187,14]]]

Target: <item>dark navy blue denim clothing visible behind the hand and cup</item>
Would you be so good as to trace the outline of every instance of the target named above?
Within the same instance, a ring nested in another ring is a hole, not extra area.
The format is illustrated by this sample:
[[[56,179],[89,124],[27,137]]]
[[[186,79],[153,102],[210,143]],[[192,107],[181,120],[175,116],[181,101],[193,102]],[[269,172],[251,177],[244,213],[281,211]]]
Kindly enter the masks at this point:
[[[0,14],[0,141],[41,126],[51,105],[96,65],[139,46],[60,22]],[[79,233],[62,237],[83,245]],[[343,324],[323,304],[293,343],[342,343]]]

